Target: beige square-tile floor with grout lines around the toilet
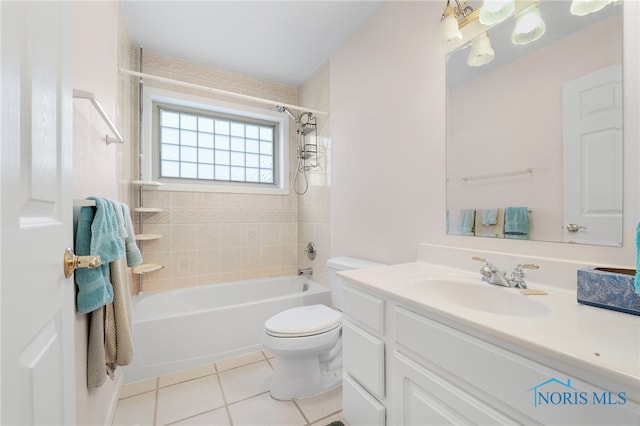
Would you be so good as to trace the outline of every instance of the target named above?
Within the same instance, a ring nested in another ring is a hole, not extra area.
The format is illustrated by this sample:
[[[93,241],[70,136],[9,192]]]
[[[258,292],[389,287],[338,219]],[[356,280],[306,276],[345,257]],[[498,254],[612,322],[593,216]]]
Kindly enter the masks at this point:
[[[325,426],[342,418],[342,389],[296,400],[269,396],[275,359],[263,351],[127,383],[113,420],[124,425]]]

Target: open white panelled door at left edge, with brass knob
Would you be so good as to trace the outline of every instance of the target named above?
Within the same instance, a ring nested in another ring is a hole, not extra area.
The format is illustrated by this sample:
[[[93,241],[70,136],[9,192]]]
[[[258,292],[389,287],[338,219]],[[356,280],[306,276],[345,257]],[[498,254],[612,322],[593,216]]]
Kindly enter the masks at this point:
[[[75,424],[72,2],[1,2],[1,419]]]

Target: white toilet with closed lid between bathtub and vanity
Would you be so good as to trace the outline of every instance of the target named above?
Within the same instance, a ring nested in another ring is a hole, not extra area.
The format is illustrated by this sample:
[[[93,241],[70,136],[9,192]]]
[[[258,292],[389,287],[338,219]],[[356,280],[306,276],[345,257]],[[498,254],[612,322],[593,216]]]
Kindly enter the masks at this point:
[[[342,383],[343,283],[337,272],[380,265],[352,257],[329,259],[329,284],[336,309],[298,306],[265,321],[262,343],[276,356],[270,383],[274,399],[302,399]]]

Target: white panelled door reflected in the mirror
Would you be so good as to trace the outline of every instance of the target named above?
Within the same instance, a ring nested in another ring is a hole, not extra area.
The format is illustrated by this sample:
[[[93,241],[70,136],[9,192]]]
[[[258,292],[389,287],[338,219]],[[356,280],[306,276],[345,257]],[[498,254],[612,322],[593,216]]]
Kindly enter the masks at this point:
[[[562,155],[564,240],[622,245],[622,66],[565,83]]]

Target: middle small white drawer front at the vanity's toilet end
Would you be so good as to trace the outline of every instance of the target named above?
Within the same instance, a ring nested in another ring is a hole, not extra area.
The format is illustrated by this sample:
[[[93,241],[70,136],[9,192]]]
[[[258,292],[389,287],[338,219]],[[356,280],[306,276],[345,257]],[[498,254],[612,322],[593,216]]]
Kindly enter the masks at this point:
[[[384,342],[349,322],[342,324],[342,362],[374,396],[384,398]]]

